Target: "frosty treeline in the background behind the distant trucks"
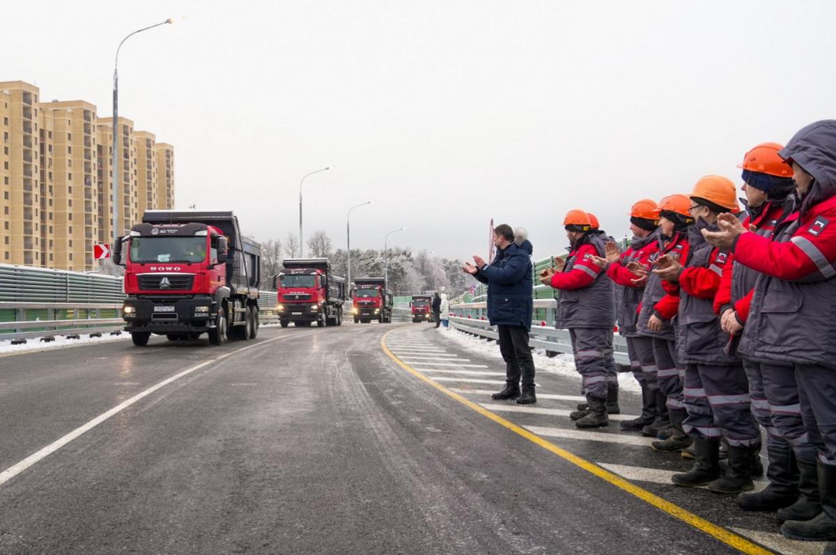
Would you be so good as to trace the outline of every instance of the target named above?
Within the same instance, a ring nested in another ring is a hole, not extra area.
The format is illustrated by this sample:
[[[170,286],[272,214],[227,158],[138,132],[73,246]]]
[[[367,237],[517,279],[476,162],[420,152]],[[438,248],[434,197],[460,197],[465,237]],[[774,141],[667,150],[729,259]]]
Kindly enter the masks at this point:
[[[262,286],[272,283],[273,275],[282,271],[285,258],[298,257],[298,237],[289,234],[284,240],[262,242]],[[348,260],[344,249],[334,249],[334,243],[322,230],[308,238],[305,258],[327,258],[334,272],[345,276]],[[351,279],[384,275],[385,260],[389,259],[389,283],[395,295],[415,295],[428,290],[445,290],[457,296],[469,286],[461,272],[461,262],[433,256],[427,250],[414,251],[391,247],[386,253],[375,249],[351,250]]]

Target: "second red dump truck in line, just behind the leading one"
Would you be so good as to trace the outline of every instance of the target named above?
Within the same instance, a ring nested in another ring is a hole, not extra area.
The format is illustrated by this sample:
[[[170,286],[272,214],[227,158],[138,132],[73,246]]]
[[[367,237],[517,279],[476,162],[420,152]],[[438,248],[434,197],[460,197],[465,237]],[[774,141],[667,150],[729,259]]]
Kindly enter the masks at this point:
[[[279,323],[309,326],[343,325],[345,279],[331,271],[327,258],[296,258],[283,261],[284,271],[273,277],[278,291]]]

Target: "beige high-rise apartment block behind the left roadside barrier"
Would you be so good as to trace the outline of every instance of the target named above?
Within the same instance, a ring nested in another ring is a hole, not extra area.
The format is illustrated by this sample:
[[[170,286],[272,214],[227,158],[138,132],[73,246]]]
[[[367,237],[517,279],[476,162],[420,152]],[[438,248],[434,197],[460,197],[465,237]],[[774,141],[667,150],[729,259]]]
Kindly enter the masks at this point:
[[[39,97],[32,84],[0,82],[0,263],[94,270],[93,245],[112,236],[113,119],[83,100]],[[143,210],[173,208],[174,153],[130,119],[119,128],[125,234]]]

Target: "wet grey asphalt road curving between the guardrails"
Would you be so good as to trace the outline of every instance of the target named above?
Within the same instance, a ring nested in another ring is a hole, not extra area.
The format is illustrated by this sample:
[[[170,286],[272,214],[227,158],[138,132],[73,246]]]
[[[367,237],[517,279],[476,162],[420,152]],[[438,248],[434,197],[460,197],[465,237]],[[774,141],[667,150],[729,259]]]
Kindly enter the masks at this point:
[[[407,362],[382,347],[387,333]],[[222,347],[117,341],[0,357],[0,553],[737,552],[413,368],[596,465],[690,464],[561,437],[573,430],[565,416],[497,408],[486,392],[497,386],[472,381],[502,371],[497,361],[429,325],[271,328]],[[577,395],[561,376],[540,374],[538,386]],[[536,408],[572,404],[542,397]],[[635,412],[639,400],[622,405]],[[599,433],[623,436],[610,428]],[[733,537],[820,550],[781,542],[772,517],[730,498],[637,476]]]

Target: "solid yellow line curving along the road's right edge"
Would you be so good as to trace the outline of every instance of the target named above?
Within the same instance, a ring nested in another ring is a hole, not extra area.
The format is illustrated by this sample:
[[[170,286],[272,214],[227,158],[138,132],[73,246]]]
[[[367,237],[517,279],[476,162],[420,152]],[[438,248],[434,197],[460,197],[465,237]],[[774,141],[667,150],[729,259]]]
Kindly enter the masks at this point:
[[[462,405],[467,406],[468,408],[477,411],[482,416],[490,418],[492,421],[497,422],[500,426],[506,427],[508,430],[517,433],[520,436],[525,437],[528,441],[532,441],[536,443],[538,446],[543,447],[543,449],[553,452],[558,457],[562,458],[565,461],[571,462],[573,465],[583,468],[585,471],[589,472],[590,474],[594,474],[595,476],[601,478],[605,482],[609,482],[615,487],[619,487],[619,489],[624,490],[624,492],[628,492],[635,497],[639,497],[642,501],[646,503],[650,503],[660,511],[667,512],[670,516],[680,519],[682,522],[695,527],[701,532],[706,532],[706,534],[710,535],[711,537],[715,537],[716,539],[720,540],[727,545],[734,547],[738,551],[749,553],[751,555],[769,555],[772,553],[767,549],[757,545],[757,543],[750,542],[745,537],[738,536],[736,533],[729,532],[726,528],[717,526],[712,522],[708,522],[705,518],[698,517],[693,512],[689,512],[686,509],[680,507],[679,505],[675,505],[669,501],[665,501],[661,497],[648,492],[644,488],[638,487],[635,484],[624,480],[624,478],[604,470],[604,468],[599,467],[598,465],[594,464],[593,462],[589,462],[582,457],[578,457],[573,452],[568,452],[562,447],[558,447],[554,445],[550,441],[544,440],[542,437],[533,434],[532,432],[517,426],[512,421],[507,421],[502,416],[499,416],[491,411],[488,411],[482,406],[477,405],[476,403],[467,400],[465,397],[459,395],[458,393],[454,393],[450,391],[445,386],[441,386],[441,384],[437,383],[436,381],[431,380],[427,376],[421,374],[421,372],[416,371],[411,366],[405,364],[401,361],[397,356],[392,354],[392,351],[386,346],[386,337],[389,336],[390,333],[395,330],[390,330],[384,334],[383,337],[380,338],[380,347],[386,353],[387,356],[390,357],[395,363],[398,364],[401,368],[405,371],[410,372],[413,376],[417,377],[421,381],[425,381],[427,384],[435,387],[438,391],[441,391],[446,396],[449,396],[456,401],[459,401]]]

